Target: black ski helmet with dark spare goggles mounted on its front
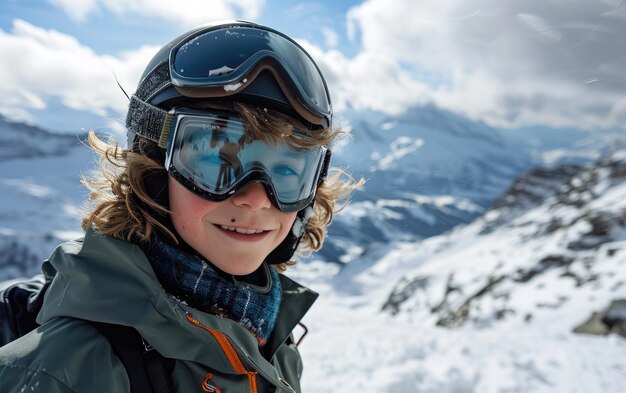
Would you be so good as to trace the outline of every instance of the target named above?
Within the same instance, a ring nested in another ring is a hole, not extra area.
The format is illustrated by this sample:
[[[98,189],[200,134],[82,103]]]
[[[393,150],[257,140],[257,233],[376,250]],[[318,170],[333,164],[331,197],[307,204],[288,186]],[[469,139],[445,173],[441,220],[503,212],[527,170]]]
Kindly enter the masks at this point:
[[[286,35],[252,22],[202,25],[159,50],[131,98],[129,146],[136,136],[159,142],[165,111],[189,98],[267,106],[310,129],[332,122],[326,81],[311,56]]]

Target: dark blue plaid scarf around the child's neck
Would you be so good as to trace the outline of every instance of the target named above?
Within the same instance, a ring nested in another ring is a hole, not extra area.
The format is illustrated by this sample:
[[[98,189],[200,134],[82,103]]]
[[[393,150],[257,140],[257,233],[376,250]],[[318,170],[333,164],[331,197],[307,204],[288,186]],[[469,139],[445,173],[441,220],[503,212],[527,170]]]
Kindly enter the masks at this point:
[[[280,278],[267,264],[264,288],[239,282],[216,272],[198,255],[184,252],[156,238],[142,247],[163,288],[190,306],[232,319],[264,345],[280,307]]]

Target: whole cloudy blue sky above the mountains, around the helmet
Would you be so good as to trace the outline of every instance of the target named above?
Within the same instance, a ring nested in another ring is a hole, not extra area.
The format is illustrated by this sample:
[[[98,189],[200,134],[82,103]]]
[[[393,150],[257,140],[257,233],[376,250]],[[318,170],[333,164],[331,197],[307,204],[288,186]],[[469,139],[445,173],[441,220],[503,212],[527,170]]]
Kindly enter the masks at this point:
[[[113,74],[132,91],[161,45],[224,18],[297,39],[338,113],[436,105],[500,127],[626,124],[623,0],[3,0],[0,114],[106,126],[126,106]]]

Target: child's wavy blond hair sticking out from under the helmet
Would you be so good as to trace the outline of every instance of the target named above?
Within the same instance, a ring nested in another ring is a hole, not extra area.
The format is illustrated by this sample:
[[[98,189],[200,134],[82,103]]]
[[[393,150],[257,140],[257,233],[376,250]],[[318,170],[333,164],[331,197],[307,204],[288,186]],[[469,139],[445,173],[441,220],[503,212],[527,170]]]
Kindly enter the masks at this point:
[[[189,105],[191,106],[191,105]],[[342,132],[340,129],[305,131],[308,138],[295,134],[294,129],[307,130],[297,121],[265,108],[254,108],[241,103],[198,104],[198,109],[227,109],[239,113],[245,124],[246,137],[267,143],[287,141],[296,148],[331,145]],[[310,138],[313,137],[313,138]],[[155,200],[154,190],[148,183],[161,184],[159,192],[167,192],[167,171],[163,166],[164,151],[156,143],[139,139],[133,149],[123,149],[114,140],[104,141],[91,130],[88,136],[91,148],[100,156],[99,171],[83,177],[90,190],[90,203],[82,219],[83,229],[93,227],[100,234],[136,244],[148,242],[158,229],[174,244],[180,239],[171,225],[167,206]],[[317,188],[313,215],[307,225],[297,252],[307,256],[324,244],[326,228],[333,214],[347,203],[352,191],[363,180],[355,181],[345,172],[332,169],[326,180]],[[295,261],[275,265],[284,271]]]

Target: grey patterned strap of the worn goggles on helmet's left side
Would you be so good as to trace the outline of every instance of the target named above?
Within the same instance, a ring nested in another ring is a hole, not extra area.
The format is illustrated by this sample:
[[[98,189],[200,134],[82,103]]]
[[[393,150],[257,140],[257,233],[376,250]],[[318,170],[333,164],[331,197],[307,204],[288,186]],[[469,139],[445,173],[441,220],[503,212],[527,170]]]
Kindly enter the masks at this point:
[[[161,148],[167,146],[172,129],[172,116],[167,111],[150,105],[136,95],[130,99],[126,127],[137,136],[155,142]]]

